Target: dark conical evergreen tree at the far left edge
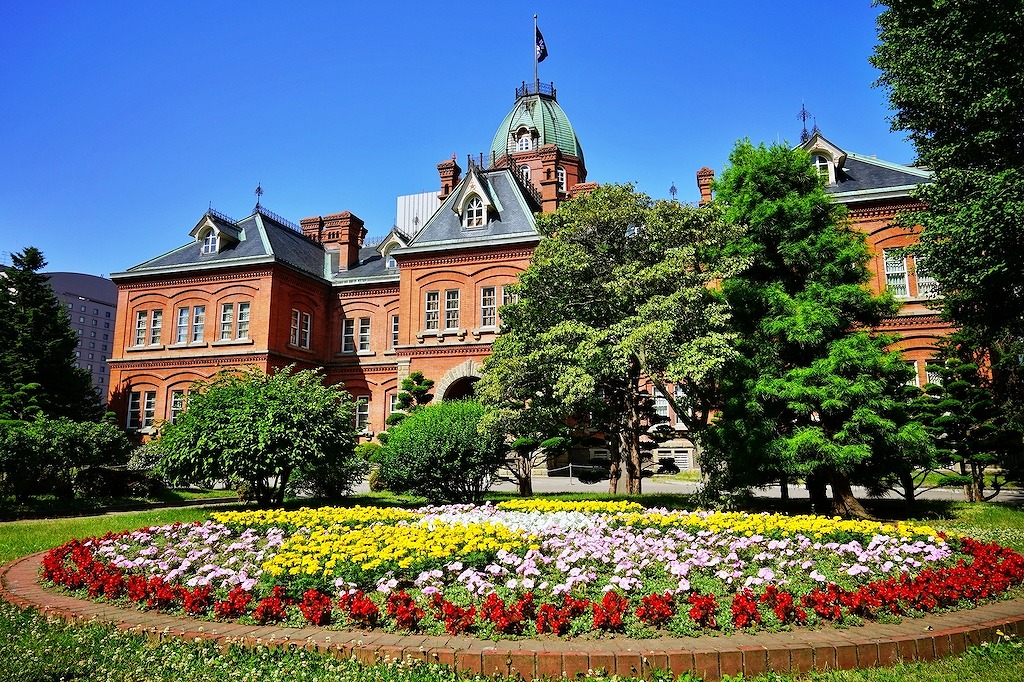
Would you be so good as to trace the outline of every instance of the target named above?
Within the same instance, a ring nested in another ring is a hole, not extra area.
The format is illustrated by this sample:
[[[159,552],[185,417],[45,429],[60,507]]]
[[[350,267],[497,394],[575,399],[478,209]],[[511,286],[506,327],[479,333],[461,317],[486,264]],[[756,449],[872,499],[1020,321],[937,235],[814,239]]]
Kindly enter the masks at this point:
[[[79,337],[40,270],[42,252],[27,247],[0,269],[0,418],[97,419],[90,374],[76,365]]]

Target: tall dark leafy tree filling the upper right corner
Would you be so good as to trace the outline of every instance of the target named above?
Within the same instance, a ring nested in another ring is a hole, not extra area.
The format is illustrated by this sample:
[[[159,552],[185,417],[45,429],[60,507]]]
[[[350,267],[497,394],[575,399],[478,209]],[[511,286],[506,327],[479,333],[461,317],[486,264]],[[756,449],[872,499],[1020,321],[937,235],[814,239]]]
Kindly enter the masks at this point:
[[[991,351],[993,390],[1024,425],[1024,5],[878,0],[871,63],[893,130],[935,173],[906,222],[958,343]]]

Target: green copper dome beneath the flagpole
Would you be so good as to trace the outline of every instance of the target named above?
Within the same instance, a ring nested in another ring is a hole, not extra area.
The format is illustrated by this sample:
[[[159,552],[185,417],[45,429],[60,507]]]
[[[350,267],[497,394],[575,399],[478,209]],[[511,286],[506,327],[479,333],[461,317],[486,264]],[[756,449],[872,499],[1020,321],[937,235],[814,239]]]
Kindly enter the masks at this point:
[[[506,154],[524,151],[517,147],[519,131],[523,128],[531,133],[534,145],[530,150],[557,144],[562,154],[577,157],[583,164],[583,147],[568,117],[555,99],[553,87],[525,85],[516,88],[515,106],[502,120],[490,143],[492,162]]]

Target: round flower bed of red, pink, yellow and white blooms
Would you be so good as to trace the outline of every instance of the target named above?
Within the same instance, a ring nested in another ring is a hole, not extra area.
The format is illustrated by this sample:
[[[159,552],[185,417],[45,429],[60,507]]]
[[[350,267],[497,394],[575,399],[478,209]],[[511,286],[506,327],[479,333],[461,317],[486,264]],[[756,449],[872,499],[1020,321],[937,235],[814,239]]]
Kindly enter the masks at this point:
[[[525,500],[215,513],[68,543],[43,572],[203,617],[650,637],[969,607],[1019,587],[1024,557],[906,523]]]

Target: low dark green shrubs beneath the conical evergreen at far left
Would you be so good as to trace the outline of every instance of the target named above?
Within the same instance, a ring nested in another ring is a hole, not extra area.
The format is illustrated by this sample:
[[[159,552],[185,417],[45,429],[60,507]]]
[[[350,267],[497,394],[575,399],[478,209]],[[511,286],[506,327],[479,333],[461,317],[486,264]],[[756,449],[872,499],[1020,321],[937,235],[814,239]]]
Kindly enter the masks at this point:
[[[125,434],[105,422],[0,421],[0,501],[49,493],[71,498],[79,470],[124,464],[130,452]]]

